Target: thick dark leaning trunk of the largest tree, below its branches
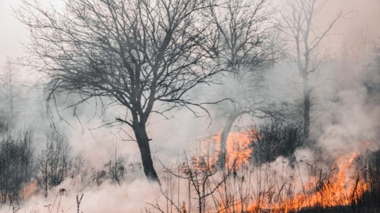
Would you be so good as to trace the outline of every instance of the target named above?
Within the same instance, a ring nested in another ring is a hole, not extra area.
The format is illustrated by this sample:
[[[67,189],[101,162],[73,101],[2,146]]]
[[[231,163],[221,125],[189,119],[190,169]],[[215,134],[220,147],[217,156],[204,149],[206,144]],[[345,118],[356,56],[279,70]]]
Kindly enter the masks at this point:
[[[155,167],[153,166],[153,160],[150,154],[149,138],[146,134],[145,126],[134,126],[133,131],[141,153],[142,167],[146,178],[149,182],[157,182],[160,184]]]

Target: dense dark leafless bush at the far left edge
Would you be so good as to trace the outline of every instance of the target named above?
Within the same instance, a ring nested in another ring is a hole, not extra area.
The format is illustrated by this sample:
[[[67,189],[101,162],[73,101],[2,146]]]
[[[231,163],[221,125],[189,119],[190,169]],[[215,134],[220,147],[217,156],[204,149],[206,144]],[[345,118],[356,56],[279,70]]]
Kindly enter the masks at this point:
[[[7,135],[0,141],[0,201],[16,207],[22,189],[34,171],[33,132],[27,130],[18,137]]]

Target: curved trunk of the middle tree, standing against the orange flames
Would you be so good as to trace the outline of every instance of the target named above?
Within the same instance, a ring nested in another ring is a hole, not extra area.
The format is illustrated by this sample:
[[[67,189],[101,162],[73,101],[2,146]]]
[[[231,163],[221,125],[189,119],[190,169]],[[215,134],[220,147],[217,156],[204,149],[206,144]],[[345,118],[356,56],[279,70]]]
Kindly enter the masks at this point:
[[[219,147],[219,156],[218,156],[218,165],[220,168],[224,168],[225,165],[225,154],[227,151],[226,143],[227,138],[230,134],[232,125],[234,124],[235,120],[241,115],[240,110],[230,113],[230,115],[227,117],[227,120],[225,121],[223,130],[221,132],[220,136],[220,147]]]

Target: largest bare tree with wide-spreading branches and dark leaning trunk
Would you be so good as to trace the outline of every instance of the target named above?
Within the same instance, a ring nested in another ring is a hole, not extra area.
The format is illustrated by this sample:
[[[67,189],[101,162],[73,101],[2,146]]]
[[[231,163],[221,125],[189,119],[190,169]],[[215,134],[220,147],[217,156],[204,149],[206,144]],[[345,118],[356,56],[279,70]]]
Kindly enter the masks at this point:
[[[159,182],[146,131],[152,113],[198,106],[188,92],[212,82],[220,69],[206,63],[204,0],[66,0],[64,9],[24,1],[19,19],[29,26],[30,64],[47,73],[48,103],[80,94],[124,107],[113,124],[134,132],[143,170]]]

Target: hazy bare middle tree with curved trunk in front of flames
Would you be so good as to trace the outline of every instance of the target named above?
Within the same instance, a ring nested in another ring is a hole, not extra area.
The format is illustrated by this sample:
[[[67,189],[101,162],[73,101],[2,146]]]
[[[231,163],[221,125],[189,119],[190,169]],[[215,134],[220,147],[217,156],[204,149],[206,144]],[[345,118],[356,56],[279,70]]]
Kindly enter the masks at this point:
[[[210,8],[213,33],[216,39],[210,44],[215,60],[221,69],[228,71],[221,96],[233,97],[234,103],[221,107],[226,116],[220,138],[219,161],[223,165],[226,141],[234,122],[244,114],[263,116],[270,111],[268,99],[260,97],[263,71],[275,57],[274,44],[269,44],[271,14],[265,9],[267,1],[219,1],[219,7]]]

